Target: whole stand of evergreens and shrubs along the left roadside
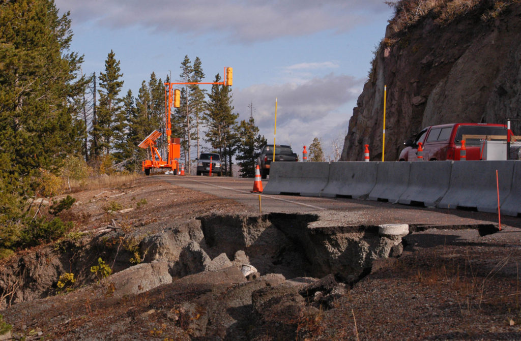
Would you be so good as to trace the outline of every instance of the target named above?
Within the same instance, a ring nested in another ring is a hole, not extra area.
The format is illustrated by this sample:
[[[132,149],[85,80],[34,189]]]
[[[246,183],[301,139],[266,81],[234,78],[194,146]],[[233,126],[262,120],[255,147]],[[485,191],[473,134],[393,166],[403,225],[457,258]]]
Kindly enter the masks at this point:
[[[68,233],[72,223],[53,212],[72,203],[53,197],[132,182],[151,158],[138,144],[154,130],[166,136],[164,83],[178,78],[151,72],[137,95],[122,94],[114,51],[103,70],[84,74],[72,35],[69,13],[60,16],[52,0],[0,0],[0,258]],[[205,79],[199,57],[184,57],[179,79]],[[265,139],[253,117],[238,121],[231,89],[187,85],[181,94],[172,136],[181,139],[187,171],[204,141],[224,158],[225,174],[237,156],[243,175],[253,175]],[[166,138],[156,142],[165,156]]]

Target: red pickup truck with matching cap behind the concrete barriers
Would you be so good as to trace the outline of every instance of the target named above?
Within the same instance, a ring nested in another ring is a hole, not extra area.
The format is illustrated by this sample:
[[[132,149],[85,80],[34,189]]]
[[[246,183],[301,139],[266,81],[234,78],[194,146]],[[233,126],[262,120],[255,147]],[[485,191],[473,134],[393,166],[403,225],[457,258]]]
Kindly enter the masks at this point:
[[[512,132],[509,131],[512,135]],[[399,161],[416,161],[418,143],[422,143],[424,160],[459,160],[461,141],[465,140],[467,160],[481,160],[482,141],[505,141],[505,124],[450,123],[431,125],[421,130],[414,140],[404,142]]]

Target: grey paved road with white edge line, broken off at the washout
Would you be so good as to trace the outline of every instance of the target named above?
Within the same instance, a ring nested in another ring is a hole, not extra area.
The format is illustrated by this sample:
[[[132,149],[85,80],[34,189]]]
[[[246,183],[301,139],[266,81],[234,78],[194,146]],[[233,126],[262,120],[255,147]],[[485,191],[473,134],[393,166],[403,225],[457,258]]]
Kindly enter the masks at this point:
[[[259,194],[251,193],[253,179],[225,178],[214,176],[173,176],[158,175],[165,181],[195,191],[235,200],[249,211],[259,211]],[[266,186],[269,180],[263,180]],[[407,205],[381,203],[371,200],[345,198],[320,198],[287,195],[260,194],[262,212],[317,212],[333,211],[334,220],[344,224],[378,225],[384,223],[408,223],[418,225],[465,226],[498,223],[498,215],[462,210],[430,209]],[[502,216],[503,225],[521,228],[521,218]]]

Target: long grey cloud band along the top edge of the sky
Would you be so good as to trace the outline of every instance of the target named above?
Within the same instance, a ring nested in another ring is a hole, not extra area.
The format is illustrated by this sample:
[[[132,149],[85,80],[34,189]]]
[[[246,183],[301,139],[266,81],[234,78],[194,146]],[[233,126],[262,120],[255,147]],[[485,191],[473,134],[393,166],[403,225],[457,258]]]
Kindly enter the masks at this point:
[[[201,35],[217,32],[234,42],[255,42],[282,36],[304,36],[330,30],[346,32],[387,10],[381,0],[56,0],[73,20],[111,28],[140,26],[156,33]]]

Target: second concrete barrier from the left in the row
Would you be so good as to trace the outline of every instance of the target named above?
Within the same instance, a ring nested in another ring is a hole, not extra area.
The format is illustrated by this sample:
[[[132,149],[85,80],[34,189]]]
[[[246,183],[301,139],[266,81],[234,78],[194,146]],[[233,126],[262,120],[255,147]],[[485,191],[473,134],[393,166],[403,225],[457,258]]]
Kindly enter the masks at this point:
[[[365,199],[376,184],[378,162],[331,162],[325,197]]]

